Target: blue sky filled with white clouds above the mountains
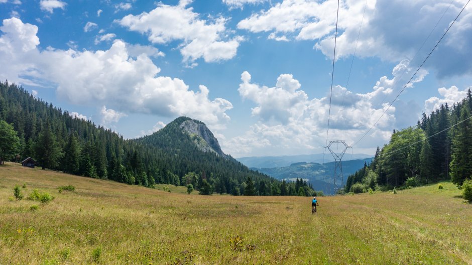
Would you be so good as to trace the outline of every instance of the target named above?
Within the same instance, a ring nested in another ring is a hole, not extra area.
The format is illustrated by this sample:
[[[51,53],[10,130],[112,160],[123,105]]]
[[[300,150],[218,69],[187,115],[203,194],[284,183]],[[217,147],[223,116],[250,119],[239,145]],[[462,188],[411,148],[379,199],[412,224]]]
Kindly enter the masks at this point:
[[[332,75],[336,0],[0,0],[0,80],[127,139],[188,116],[236,158],[374,154],[472,86],[472,4],[408,82],[466,2],[340,1]]]

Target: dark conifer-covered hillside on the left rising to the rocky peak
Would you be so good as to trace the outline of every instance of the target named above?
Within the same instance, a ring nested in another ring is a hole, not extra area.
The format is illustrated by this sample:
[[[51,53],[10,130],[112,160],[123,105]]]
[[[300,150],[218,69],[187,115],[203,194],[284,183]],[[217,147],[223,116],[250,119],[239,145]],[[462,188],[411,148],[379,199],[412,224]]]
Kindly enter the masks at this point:
[[[188,117],[177,118],[151,136],[125,140],[22,87],[0,82],[0,120],[11,124],[0,123],[11,126],[18,137],[7,144],[17,148],[6,155],[6,161],[32,157],[45,168],[146,187],[187,185],[184,177],[188,173],[195,173],[195,189],[206,180],[210,189],[224,193],[243,193],[248,177],[261,195],[272,193],[265,187],[281,185],[225,155],[206,125]],[[2,157],[0,149],[0,161]]]

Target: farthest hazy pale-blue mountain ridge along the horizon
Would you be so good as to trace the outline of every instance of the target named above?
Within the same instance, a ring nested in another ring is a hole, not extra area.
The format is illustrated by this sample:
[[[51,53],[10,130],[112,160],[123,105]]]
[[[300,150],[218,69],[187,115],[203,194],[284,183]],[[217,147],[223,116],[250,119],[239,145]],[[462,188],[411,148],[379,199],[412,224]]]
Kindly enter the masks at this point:
[[[355,160],[355,159],[366,159],[372,155],[366,154],[345,154],[344,159]],[[334,159],[331,154],[311,154],[311,155],[296,155],[296,156],[278,156],[278,157],[242,157],[237,160],[250,168],[280,168],[288,167],[293,163],[300,162],[314,162],[314,163],[327,163],[333,162]]]

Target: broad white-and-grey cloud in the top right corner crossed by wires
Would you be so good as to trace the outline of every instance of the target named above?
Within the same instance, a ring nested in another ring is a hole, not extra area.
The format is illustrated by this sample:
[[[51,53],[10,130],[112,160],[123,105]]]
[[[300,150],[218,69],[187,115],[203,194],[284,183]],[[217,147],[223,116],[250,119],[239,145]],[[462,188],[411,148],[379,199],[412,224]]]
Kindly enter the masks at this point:
[[[412,64],[419,66],[466,1],[454,0],[345,0],[340,2],[336,59],[355,52],[359,57],[378,57],[390,62],[413,59],[439,18]],[[364,15],[364,8],[366,12]],[[334,47],[336,1],[283,0],[267,10],[252,14],[238,23],[239,29],[269,33],[277,41],[316,41],[315,49],[331,58]],[[469,5],[451,27],[438,50],[428,59],[426,69],[439,77],[472,73],[472,6]]]

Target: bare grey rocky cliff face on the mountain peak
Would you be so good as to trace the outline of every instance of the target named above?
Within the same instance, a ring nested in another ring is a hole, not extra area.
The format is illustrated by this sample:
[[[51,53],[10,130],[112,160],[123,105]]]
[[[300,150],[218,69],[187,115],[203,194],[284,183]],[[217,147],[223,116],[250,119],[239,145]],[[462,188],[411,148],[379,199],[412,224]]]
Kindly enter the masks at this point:
[[[221,157],[226,155],[221,151],[218,140],[204,123],[194,120],[185,120],[180,124],[182,132],[188,134],[197,147],[203,152],[213,152]]]

